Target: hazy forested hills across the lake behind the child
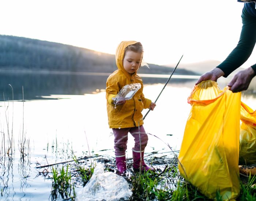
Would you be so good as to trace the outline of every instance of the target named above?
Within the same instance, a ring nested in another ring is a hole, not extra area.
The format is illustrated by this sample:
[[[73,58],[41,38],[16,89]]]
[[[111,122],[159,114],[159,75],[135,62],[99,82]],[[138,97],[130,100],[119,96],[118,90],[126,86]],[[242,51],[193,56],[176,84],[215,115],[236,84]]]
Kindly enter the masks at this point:
[[[170,74],[171,67],[148,64],[139,73]],[[38,39],[0,35],[0,70],[111,73],[117,69],[113,54]],[[177,68],[175,74],[197,75]]]

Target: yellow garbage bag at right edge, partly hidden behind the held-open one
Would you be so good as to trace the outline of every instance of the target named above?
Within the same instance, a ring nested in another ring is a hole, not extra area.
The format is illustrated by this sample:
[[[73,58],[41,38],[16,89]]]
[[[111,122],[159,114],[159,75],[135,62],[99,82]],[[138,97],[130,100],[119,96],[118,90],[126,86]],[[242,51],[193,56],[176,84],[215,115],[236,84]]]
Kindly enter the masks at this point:
[[[241,102],[239,164],[256,163],[256,110]]]

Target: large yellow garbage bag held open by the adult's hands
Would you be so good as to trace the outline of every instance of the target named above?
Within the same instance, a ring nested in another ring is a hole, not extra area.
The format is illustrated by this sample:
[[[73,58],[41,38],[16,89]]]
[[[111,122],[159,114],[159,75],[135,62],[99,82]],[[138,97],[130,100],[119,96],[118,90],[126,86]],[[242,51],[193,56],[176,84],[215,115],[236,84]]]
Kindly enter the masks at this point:
[[[241,93],[207,80],[193,88],[192,108],[178,156],[179,170],[208,198],[239,195],[238,170]]]

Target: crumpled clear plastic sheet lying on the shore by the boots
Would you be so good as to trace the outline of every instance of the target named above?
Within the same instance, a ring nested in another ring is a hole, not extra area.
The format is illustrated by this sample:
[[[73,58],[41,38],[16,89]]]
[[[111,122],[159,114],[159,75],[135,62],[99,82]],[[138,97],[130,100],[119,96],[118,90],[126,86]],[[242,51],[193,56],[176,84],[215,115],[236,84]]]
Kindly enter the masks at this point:
[[[76,192],[76,201],[129,200],[132,195],[128,182],[113,172],[104,172],[97,164],[93,175],[83,189]]]

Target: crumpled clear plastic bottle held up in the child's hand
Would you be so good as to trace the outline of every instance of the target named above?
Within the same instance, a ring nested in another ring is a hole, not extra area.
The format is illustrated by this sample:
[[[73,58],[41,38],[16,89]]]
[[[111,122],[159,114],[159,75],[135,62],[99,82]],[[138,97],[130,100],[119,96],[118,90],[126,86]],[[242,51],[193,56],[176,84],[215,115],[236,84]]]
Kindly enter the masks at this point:
[[[118,94],[113,98],[114,103],[123,100],[129,100],[141,88],[140,83],[133,83],[125,85]]]

